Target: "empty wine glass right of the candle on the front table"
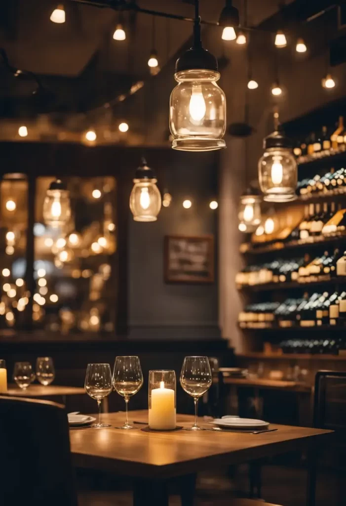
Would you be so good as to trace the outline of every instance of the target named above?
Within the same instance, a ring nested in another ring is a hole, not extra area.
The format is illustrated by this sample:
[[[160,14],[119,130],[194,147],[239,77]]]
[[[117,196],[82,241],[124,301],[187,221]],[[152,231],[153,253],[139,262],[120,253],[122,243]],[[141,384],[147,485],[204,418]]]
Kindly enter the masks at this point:
[[[212,371],[208,357],[185,357],[180,373],[180,385],[194,400],[194,424],[186,431],[202,431],[197,425],[197,403],[212,384]]]

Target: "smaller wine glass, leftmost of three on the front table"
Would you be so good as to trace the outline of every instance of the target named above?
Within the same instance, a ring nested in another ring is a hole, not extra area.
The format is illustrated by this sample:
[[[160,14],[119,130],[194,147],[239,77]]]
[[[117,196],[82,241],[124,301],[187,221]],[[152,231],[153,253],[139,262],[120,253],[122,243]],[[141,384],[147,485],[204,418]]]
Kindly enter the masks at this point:
[[[90,427],[102,429],[111,427],[109,424],[101,423],[101,400],[112,392],[112,373],[109,364],[88,364],[84,383],[85,392],[97,401],[98,422]]]

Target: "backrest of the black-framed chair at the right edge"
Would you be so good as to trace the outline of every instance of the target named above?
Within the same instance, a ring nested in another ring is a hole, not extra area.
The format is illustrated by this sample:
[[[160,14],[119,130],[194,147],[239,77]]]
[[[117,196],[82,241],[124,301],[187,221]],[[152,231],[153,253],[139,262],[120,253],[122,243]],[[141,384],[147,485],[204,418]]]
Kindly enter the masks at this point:
[[[334,431],[346,429],[346,372],[317,371],[314,427]]]

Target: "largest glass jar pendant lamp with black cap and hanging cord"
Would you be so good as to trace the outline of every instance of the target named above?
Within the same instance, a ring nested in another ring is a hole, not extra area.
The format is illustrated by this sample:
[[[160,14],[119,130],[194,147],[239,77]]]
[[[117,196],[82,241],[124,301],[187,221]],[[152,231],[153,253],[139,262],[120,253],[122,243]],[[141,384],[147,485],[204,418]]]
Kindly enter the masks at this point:
[[[212,151],[226,147],[226,98],[217,85],[216,58],[202,47],[199,2],[195,1],[193,45],[176,62],[178,85],[170,98],[173,149]]]

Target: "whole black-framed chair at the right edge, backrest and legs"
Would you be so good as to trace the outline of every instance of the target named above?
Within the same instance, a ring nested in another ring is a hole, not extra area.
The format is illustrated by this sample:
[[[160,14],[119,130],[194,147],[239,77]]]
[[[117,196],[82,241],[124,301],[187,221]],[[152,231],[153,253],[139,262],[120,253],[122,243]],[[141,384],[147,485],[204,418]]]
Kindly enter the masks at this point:
[[[346,472],[346,372],[318,371],[315,376],[314,427],[335,431],[328,444],[327,462],[338,476],[338,504],[344,500]],[[334,441],[334,444],[333,442]],[[325,461],[325,459],[324,459]],[[310,483],[310,494],[315,498],[316,472]],[[336,505],[335,505],[336,506]]]

